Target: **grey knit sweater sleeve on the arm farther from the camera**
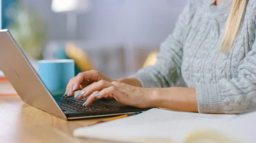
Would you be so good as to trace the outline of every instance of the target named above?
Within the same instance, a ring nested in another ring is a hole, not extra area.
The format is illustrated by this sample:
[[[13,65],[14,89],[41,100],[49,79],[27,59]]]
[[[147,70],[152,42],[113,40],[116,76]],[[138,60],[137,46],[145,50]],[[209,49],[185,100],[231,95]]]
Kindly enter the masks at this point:
[[[172,87],[180,79],[184,27],[190,22],[193,15],[192,11],[194,10],[190,1],[179,15],[173,33],[160,45],[156,63],[139,70],[134,75],[143,87]]]

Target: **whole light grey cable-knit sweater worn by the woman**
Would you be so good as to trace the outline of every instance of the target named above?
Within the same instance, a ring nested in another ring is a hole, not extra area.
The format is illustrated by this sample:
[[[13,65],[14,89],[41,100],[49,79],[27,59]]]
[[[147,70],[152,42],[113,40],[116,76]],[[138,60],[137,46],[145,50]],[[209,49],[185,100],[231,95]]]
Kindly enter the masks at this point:
[[[249,0],[239,36],[220,52],[231,0],[190,0],[172,34],[160,45],[157,62],[135,77],[143,87],[173,87],[183,77],[195,87],[202,113],[256,110],[256,0]],[[172,93],[169,93],[172,94]],[[170,103],[172,104],[172,103]]]

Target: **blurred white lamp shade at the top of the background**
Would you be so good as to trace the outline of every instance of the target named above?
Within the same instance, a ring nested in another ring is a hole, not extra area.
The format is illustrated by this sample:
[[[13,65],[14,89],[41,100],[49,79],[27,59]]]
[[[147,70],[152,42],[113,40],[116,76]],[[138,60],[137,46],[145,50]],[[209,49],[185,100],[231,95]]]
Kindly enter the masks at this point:
[[[54,12],[86,12],[90,9],[90,0],[52,0]]]

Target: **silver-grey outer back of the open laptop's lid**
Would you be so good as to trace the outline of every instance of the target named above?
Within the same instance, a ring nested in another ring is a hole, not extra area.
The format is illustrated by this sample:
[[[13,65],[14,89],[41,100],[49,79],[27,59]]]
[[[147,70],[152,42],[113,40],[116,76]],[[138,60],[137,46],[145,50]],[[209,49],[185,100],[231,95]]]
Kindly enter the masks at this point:
[[[67,120],[8,30],[0,30],[0,69],[27,104]]]

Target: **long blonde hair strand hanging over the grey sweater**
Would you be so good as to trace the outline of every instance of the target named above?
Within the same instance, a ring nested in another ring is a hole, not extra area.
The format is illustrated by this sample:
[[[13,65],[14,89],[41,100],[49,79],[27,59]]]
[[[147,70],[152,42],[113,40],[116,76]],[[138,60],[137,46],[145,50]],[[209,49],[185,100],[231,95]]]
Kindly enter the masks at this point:
[[[221,43],[221,52],[228,53],[234,43],[241,29],[241,23],[244,18],[244,11],[248,0],[232,0],[230,6],[230,14],[227,19],[226,30]]]

